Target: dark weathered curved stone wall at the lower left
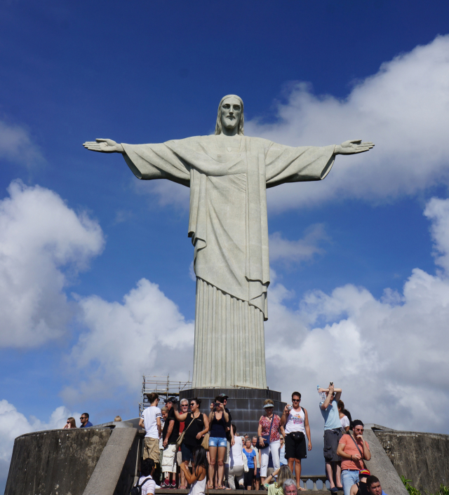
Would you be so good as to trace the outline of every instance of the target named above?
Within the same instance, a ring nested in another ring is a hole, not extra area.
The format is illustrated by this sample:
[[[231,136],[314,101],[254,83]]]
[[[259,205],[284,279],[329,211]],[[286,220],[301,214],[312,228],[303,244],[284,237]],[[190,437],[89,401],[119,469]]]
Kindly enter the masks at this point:
[[[111,433],[76,428],[16,438],[5,495],[83,494]]]

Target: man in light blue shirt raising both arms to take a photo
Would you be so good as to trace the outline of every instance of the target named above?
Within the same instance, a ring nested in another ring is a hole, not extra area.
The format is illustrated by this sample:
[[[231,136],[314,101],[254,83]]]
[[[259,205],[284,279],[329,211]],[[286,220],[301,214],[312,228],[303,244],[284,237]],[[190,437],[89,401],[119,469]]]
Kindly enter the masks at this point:
[[[320,410],[324,419],[324,460],[326,461],[326,474],[328,475],[330,491],[335,493],[342,490],[342,467],[340,456],[337,456],[337,447],[340,438],[342,438],[343,428],[338,414],[337,402],[342,395],[341,388],[334,388],[333,382],[329,388],[319,388],[319,392],[326,393],[326,400],[321,400]],[[335,470],[334,483],[333,472]]]

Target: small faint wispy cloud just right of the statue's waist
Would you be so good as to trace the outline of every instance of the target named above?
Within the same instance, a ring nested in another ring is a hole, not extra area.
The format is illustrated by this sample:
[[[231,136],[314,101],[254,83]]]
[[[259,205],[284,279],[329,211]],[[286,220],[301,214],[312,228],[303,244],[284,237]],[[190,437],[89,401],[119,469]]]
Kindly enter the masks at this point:
[[[323,224],[314,224],[298,240],[288,240],[282,237],[281,232],[274,232],[269,236],[269,259],[271,262],[305,262],[316,254],[323,253],[319,243],[328,240]]]

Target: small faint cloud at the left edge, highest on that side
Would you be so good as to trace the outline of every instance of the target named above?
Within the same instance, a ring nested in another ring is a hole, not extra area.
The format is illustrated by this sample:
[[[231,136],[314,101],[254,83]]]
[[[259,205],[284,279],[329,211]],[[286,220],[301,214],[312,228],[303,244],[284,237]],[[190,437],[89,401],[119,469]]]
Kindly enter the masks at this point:
[[[32,142],[28,131],[3,121],[0,121],[0,158],[28,166],[43,161],[41,151]]]

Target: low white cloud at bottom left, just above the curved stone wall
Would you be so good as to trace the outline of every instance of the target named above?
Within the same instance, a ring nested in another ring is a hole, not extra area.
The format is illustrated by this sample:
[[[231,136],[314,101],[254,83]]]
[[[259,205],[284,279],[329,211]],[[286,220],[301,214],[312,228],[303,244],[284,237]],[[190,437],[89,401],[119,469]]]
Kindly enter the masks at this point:
[[[70,412],[65,406],[57,407],[48,421],[41,421],[34,416],[27,419],[25,414],[19,412],[10,402],[0,400],[0,485],[6,484],[15,438],[32,431],[63,428],[70,416],[77,421],[76,426],[80,426],[79,420],[76,420],[80,414]]]

